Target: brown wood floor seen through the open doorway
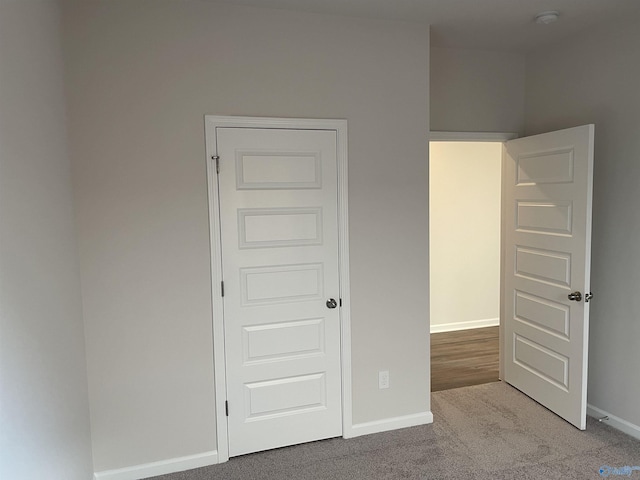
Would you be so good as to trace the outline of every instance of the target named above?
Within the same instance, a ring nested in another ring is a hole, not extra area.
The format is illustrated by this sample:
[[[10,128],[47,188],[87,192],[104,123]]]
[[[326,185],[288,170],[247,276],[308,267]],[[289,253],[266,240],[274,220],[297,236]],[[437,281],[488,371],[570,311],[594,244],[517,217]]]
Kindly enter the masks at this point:
[[[498,328],[431,335],[431,391],[498,381]]]

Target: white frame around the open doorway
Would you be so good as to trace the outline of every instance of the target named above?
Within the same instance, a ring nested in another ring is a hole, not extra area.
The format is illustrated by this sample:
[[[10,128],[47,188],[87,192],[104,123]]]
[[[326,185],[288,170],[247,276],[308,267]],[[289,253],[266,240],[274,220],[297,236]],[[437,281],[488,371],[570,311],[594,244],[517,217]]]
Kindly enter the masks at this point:
[[[445,131],[432,131],[429,132],[429,142],[501,142],[504,144],[509,140],[519,138],[520,135],[514,132],[445,132]],[[504,154],[500,159],[500,326],[498,327],[498,378],[502,380],[504,377],[504,348],[502,341],[504,339],[504,256],[505,251],[503,248],[504,239],[506,235],[505,230],[505,158]],[[431,248],[429,248],[429,255],[431,255]],[[431,280],[429,280],[431,284]],[[431,318],[429,318],[431,323]]]

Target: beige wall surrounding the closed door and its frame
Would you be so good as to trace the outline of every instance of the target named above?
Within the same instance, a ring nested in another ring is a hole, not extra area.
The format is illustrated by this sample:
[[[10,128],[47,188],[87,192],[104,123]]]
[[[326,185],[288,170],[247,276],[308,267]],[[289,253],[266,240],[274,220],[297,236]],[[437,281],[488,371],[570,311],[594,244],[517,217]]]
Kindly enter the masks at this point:
[[[216,448],[204,114],[348,120],[353,419],[429,410],[428,29],[199,1],[64,17],[96,470]]]

